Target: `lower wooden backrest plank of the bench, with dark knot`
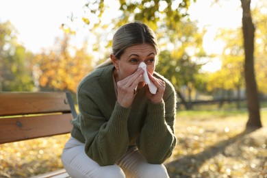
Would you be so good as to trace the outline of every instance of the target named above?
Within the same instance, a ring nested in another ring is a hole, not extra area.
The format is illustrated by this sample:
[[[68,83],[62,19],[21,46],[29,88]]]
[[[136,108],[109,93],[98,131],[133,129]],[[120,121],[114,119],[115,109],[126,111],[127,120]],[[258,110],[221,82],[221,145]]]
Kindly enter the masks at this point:
[[[0,118],[0,144],[69,133],[71,120],[71,113]]]

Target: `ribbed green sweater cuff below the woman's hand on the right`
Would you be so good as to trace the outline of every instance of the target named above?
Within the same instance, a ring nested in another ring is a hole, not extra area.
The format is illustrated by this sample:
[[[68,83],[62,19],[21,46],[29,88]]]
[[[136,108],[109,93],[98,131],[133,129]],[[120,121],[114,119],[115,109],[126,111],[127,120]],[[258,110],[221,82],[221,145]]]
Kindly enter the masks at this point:
[[[148,118],[147,123],[151,129],[164,130],[165,125],[165,103],[162,100],[160,103],[148,102]]]

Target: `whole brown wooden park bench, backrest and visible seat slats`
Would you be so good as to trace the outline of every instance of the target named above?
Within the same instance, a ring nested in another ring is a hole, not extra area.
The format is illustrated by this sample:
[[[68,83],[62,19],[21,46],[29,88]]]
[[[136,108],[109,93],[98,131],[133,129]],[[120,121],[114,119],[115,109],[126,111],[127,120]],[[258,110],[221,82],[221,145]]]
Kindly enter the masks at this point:
[[[69,92],[0,92],[0,144],[70,133],[76,116]],[[70,176],[62,169],[36,177]]]

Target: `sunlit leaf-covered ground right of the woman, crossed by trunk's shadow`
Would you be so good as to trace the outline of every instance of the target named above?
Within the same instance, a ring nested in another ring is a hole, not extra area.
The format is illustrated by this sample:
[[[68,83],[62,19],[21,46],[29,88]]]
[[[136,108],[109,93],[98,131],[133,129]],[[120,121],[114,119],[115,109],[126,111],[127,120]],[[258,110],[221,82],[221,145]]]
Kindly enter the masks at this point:
[[[266,115],[265,115],[266,117]],[[262,118],[266,126],[267,118]],[[177,117],[170,177],[267,177],[267,127],[245,130],[242,114]]]

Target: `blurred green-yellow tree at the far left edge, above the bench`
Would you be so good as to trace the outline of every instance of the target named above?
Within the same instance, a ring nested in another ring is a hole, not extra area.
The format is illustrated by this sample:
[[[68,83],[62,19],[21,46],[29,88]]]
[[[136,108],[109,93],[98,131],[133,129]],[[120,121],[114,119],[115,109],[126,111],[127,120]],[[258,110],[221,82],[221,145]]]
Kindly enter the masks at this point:
[[[0,91],[31,91],[32,54],[18,44],[16,29],[10,22],[0,23]]]

